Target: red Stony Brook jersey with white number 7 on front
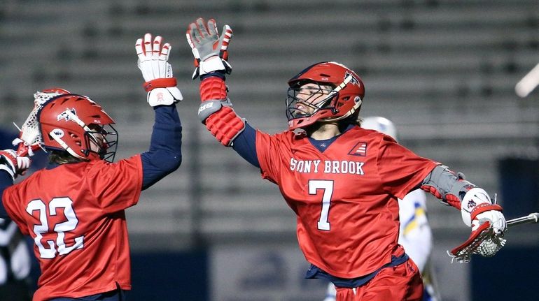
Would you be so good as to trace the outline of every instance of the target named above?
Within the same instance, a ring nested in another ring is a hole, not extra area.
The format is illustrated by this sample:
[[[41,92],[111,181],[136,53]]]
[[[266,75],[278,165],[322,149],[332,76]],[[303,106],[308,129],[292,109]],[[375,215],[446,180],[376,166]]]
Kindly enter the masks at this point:
[[[297,215],[297,240],[307,261],[341,278],[391,262],[398,246],[398,198],[438,165],[359,126],[324,152],[290,131],[257,131],[256,152],[262,177],[279,185]]]

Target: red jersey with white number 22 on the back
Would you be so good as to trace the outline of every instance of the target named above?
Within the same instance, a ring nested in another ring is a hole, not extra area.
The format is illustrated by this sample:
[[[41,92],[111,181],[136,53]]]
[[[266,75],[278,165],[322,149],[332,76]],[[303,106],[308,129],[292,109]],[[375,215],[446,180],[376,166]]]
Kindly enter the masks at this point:
[[[34,239],[41,277],[34,301],[131,288],[125,208],[142,187],[139,155],[38,170],[6,189],[3,205]]]

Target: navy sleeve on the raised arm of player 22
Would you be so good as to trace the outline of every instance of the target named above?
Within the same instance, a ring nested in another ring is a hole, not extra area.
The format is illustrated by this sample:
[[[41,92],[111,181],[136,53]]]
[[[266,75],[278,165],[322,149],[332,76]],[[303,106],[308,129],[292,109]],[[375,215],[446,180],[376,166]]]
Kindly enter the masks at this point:
[[[178,169],[181,164],[181,122],[176,105],[154,107],[155,124],[148,152],[141,154],[142,189]]]

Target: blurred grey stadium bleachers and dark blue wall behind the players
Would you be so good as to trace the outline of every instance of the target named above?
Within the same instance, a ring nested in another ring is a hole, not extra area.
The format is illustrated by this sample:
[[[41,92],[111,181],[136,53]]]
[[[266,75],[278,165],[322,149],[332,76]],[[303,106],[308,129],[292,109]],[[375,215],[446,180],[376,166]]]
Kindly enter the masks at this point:
[[[295,216],[257,168],[197,119],[198,80],[185,39],[197,17],[230,24],[230,98],[269,133],[286,130],[286,82],[339,61],[360,75],[360,115],[380,115],[402,145],[498,193],[508,219],[539,210],[539,92],[514,85],[539,62],[537,0],[0,0],[0,129],[16,135],[32,94],[62,87],[90,96],[115,120],[118,155],[144,152],[153,124],[134,43],[172,44],[184,101],[183,164],[127,210],[130,300],[322,300],[304,280]],[[536,300],[539,228],[511,229],[493,258],[451,264],[469,229],[428,197],[442,300]]]

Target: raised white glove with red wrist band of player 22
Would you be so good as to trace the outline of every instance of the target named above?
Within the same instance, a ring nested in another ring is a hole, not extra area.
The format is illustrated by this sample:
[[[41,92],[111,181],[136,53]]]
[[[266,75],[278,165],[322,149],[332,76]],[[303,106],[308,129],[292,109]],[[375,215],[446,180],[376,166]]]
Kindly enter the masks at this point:
[[[144,40],[137,40],[135,50],[139,56],[137,66],[146,81],[144,89],[148,91],[148,103],[155,107],[181,101],[183,96],[176,87],[176,78],[172,77],[172,66],[168,63],[170,44],[162,44],[161,36],[156,36],[152,41],[152,35],[145,34]]]

